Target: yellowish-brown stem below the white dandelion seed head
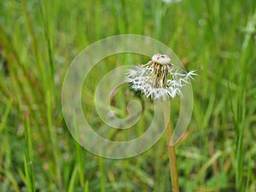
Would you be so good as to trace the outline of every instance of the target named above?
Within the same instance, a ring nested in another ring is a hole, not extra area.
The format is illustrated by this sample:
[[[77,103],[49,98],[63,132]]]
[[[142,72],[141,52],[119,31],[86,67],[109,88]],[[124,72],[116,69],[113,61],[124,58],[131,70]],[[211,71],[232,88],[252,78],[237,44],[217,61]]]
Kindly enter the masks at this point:
[[[165,108],[167,110],[167,108]],[[167,115],[165,110],[165,116]],[[168,124],[166,127],[166,142],[169,154],[169,164],[170,164],[170,172],[171,172],[171,180],[172,180],[172,192],[179,192],[178,188],[178,174],[177,174],[177,162],[176,162],[176,153],[175,147],[170,145],[171,137],[172,137],[172,125],[171,119],[168,118]]]

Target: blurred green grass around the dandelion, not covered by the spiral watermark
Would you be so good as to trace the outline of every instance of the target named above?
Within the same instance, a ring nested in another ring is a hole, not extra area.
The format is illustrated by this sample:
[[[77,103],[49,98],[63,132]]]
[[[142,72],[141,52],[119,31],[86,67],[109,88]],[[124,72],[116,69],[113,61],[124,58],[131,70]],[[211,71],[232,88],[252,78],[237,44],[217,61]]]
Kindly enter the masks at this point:
[[[182,191],[256,191],[253,0],[0,1],[0,191],[171,191],[165,137],[137,157],[103,159],[73,140],[61,113],[61,84],[75,55],[123,33],[156,38],[197,70],[193,116],[177,145]],[[113,55],[102,62],[115,66],[94,68],[83,88],[90,125],[103,126],[94,108],[102,76],[147,60]],[[115,108],[122,117],[132,95],[121,93]],[[172,112],[176,119],[175,103]]]

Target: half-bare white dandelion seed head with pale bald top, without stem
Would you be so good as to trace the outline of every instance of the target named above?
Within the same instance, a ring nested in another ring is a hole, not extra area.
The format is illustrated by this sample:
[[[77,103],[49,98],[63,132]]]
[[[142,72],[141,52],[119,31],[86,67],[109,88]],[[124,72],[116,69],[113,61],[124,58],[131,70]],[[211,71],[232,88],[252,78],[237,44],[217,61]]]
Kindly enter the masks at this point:
[[[195,75],[195,71],[185,73],[175,69],[169,56],[156,54],[147,64],[129,70],[125,82],[131,83],[132,90],[140,90],[146,97],[165,101],[182,96],[181,88]]]

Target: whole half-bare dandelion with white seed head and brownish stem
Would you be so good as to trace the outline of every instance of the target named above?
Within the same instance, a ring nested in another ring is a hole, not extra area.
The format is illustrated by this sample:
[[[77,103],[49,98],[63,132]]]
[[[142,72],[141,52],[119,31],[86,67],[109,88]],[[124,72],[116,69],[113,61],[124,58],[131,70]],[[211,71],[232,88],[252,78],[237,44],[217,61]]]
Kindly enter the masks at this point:
[[[195,71],[189,73],[178,69],[167,55],[153,55],[145,65],[134,67],[126,73],[125,81],[131,83],[132,90],[140,90],[145,96],[154,100],[165,101],[175,96],[182,96],[182,87],[189,84]],[[168,107],[164,108],[167,116]],[[172,191],[179,192],[175,147],[170,145],[172,125],[170,119],[166,126],[166,140],[172,180]]]

